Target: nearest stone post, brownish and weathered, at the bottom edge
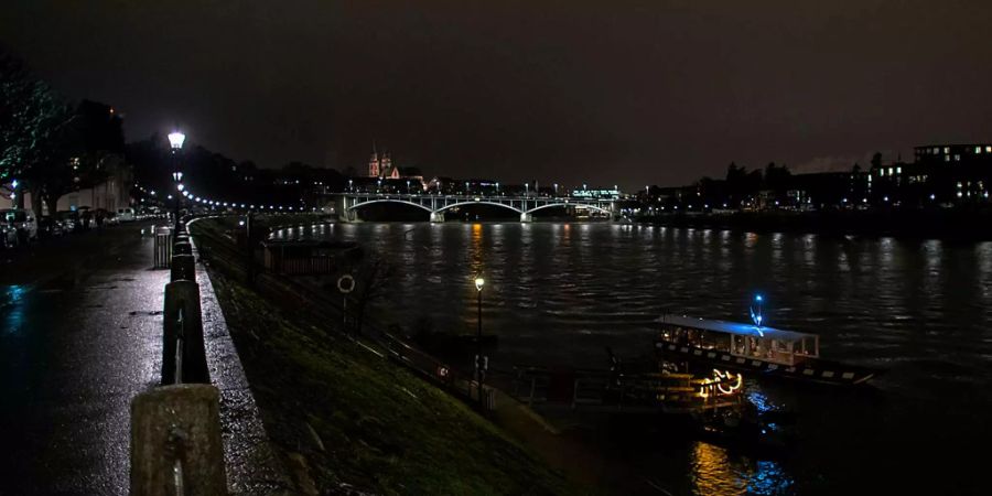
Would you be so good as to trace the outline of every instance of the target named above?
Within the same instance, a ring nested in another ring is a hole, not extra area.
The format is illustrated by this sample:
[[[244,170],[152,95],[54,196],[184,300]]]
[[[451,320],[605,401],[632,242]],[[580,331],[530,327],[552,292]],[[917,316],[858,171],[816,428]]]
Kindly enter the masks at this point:
[[[226,495],[220,393],[175,385],[131,401],[131,495]]]

